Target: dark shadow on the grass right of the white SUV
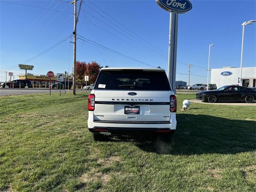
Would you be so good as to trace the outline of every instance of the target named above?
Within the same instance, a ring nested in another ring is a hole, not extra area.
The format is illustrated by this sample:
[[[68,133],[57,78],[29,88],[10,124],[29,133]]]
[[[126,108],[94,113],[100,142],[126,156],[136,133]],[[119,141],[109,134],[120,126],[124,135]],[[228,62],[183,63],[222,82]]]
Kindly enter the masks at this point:
[[[170,142],[154,140],[136,145],[158,154],[234,154],[255,150],[256,123],[216,116],[177,114],[177,130]]]

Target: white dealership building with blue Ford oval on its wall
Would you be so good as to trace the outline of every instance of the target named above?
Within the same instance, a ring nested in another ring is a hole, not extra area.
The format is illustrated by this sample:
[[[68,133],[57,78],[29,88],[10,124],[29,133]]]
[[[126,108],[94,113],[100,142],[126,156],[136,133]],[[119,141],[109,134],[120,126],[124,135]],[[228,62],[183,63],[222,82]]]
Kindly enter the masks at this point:
[[[211,84],[216,84],[217,88],[225,85],[239,84],[240,67],[223,67],[211,70]],[[242,86],[255,87],[256,67],[242,68]]]

